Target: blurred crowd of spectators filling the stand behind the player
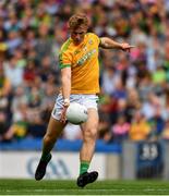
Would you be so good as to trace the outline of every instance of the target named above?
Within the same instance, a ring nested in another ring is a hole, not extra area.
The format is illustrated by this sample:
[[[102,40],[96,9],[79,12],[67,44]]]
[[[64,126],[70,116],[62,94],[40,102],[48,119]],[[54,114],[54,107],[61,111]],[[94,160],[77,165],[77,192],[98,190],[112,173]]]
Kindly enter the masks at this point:
[[[169,139],[168,0],[1,0],[0,142],[44,136],[76,12],[87,14],[89,32],[135,46],[100,49],[98,138]],[[80,126],[68,124],[61,137],[81,138]]]

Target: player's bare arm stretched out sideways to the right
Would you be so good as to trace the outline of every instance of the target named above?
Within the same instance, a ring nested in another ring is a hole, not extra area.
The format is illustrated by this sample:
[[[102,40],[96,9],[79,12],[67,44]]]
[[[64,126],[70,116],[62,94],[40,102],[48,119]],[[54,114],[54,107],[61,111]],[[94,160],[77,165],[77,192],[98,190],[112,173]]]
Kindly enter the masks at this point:
[[[134,47],[129,45],[128,42],[122,42],[122,44],[117,42],[108,37],[101,37],[99,46],[105,49],[121,49],[125,51],[129,51],[131,48]]]

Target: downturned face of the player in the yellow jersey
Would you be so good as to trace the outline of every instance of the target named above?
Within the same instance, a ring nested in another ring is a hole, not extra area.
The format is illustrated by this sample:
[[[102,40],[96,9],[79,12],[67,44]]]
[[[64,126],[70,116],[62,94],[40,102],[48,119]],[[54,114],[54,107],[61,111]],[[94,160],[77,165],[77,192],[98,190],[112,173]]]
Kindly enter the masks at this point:
[[[85,27],[79,27],[79,28],[72,29],[71,38],[73,39],[73,42],[75,45],[80,45],[83,41],[87,29]]]

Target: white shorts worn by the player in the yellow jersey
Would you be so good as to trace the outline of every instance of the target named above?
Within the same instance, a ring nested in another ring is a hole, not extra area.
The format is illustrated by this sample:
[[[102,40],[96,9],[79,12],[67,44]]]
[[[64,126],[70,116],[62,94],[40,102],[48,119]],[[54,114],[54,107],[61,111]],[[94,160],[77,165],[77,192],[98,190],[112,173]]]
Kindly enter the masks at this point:
[[[70,102],[79,102],[84,105],[87,109],[94,108],[97,110],[98,96],[96,95],[83,95],[83,94],[72,94],[70,96]],[[53,119],[60,120],[61,111],[63,109],[63,96],[58,95],[56,99],[55,107],[52,109],[51,115]]]

